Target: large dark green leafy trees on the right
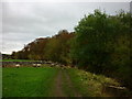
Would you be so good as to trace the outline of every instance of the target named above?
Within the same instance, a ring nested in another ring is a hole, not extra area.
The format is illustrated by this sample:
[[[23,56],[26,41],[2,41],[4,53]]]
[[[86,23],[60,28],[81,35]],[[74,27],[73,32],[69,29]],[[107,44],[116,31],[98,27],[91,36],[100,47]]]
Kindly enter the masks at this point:
[[[107,15],[99,10],[80,20],[75,28],[70,55],[77,65],[96,74],[118,78],[132,88],[130,13]]]

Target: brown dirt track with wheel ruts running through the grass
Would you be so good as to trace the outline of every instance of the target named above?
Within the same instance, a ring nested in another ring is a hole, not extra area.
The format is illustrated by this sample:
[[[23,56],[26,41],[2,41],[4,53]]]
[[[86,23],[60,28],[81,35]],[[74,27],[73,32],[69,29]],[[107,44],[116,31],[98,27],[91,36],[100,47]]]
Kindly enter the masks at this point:
[[[56,76],[54,95],[55,97],[81,97],[74,87],[66,69],[61,69]]]

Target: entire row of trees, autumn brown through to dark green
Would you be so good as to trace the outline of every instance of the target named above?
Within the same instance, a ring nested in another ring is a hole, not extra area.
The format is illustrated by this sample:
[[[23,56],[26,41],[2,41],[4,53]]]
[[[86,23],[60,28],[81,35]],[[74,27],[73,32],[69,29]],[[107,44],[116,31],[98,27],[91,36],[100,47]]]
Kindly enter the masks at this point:
[[[59,31],[52,37],[36,38],[14,58],[44,59],[75,65],[86,70],[117,78],[132,88],[132,18],[121,11],[108,15],[95,10],[85,15],[75,32]]]

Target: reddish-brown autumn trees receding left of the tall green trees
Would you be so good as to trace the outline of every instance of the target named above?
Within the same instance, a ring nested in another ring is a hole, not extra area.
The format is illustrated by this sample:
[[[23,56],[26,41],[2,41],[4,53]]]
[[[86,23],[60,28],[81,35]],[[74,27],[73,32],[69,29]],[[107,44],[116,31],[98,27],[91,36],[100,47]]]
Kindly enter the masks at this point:
[[[22,51],[13,52],[14,59],[52,61],[67,65],[70,63],[70,40],[75,33],[62,30],[52,37],[41,37],[29,43]]]

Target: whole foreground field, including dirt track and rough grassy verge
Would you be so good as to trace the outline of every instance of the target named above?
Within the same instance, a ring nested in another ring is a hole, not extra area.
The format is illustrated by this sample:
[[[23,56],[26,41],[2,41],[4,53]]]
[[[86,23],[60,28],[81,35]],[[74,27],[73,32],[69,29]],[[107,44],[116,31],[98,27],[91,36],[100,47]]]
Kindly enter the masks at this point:
[[[103,86],[120,85],[76,68],[20,67],[2,72],[3,97],[109,97]]]

